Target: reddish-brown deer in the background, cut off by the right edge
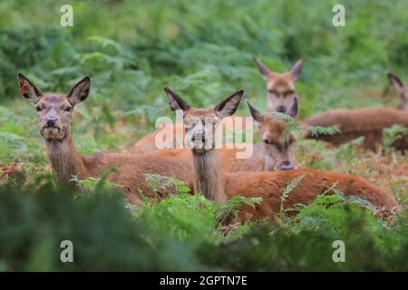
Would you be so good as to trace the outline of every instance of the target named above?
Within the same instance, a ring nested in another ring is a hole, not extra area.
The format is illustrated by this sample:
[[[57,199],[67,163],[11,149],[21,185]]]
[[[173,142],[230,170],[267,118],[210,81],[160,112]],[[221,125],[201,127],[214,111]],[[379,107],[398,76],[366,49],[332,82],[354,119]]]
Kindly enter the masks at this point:
[[[334,126],[340,128],[340,132],[332,135],[316,136],[306,133],[306,138],[324,140],[334,145],[343,144],[358,137],[364,137],[363,146],[366,149],[377,150],[383,143],[383,129],[400,124],[408,126],[408,88],[403,87],[401,82],[393,73],[388,73],[388,78],[397,92],[401,93],[399,110],[385,108],[366,108],[345,110],[337,109],[325,111],[305,122],[311,126]],[[393,147],[397,150],[408,150],[408,143],[396,140]]]

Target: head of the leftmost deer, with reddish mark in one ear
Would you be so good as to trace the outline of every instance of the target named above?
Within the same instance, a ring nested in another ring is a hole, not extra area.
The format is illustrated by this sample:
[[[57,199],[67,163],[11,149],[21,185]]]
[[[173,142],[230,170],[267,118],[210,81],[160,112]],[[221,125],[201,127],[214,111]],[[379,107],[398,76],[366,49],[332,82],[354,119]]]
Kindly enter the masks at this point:
[[[21,94],[34,104],[37,111],[38,129],[47,141],[64,140],[70,135],[70,119],[73,108],[89,94],[91,79],[84,77],[66,95],[44,93],[22,73],[18,73]]]

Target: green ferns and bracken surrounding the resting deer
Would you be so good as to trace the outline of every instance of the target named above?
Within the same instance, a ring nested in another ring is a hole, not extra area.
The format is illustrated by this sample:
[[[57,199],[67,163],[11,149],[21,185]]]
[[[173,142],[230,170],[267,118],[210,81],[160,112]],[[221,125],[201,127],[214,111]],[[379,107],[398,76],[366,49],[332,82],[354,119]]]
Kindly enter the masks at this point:
[[[223,226],[219,217],[242,200],[222,207],[179,185],[178,195],[133,208],[103,180],[82,181],[80,193],[57,189],[34,108],[18,92],[17,72],[49,92],[91,75],[91,96],[73,116],[83,154],[125,151],[152,131],[170,115],[165,84],[195,106],[244,88],[265,108],[254,56],[277,72],[306,58],[300,120],[394,107],[385,73],[408,82],[407,2],[343,2],[345,27],[332,24],[336,1],[82,1],[64,28],[61,1],[1,1],[0,270],[408,270],[406,210],[380,221],[358,201],[321,196],[296,218]],[[238,114],[248,115],[244,105]],[[299,138],[298,165],[361,175],[407,205],[408,159],[390,141],[380,153],[360,142],[331,149]],[[60,261],[63,239],[73,241],[73,264]],[[345,241],[345,263],[333,262],[335,240]]]

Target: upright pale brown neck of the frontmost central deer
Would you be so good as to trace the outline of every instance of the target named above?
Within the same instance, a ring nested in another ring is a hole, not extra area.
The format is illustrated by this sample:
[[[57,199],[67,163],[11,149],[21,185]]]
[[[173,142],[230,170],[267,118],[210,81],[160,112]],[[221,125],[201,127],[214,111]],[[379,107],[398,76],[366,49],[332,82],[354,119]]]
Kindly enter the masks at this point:
[[[222,182],[217,150],[204,153],[192,151],[194,167],[194,190],[208,199],[225,202],[227,200]]]

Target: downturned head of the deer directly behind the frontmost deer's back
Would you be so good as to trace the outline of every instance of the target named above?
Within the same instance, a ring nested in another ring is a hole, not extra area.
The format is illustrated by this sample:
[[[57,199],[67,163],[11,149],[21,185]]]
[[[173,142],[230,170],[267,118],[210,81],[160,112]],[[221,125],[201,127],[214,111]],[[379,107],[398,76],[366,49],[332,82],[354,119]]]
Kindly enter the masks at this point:
[[[295,169],[296,139],[292,133],[286,142],[282,139],[282,134],[287,128],[285,121],[276,120],[272,116],[262,116],[248,101],[247,104],[261,136],[266,170]]]

